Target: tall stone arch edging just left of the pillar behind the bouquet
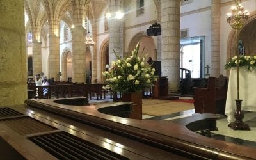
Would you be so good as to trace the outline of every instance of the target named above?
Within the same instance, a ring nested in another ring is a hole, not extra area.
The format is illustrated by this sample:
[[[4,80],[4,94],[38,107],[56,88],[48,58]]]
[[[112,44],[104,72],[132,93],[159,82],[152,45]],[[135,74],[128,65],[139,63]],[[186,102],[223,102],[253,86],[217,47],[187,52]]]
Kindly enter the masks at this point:
[[[102,42],[102,45],[100,46],[99,79],[101,82],[104,82],[104,77],[102,76],[102,72],[104,72],[106,70],[106,60],[108,60],[106,52],[108,52],[108,49],[109,49],[109,38],[106,38]],[[109,63],[111,63],[111,61],[109,61]]]

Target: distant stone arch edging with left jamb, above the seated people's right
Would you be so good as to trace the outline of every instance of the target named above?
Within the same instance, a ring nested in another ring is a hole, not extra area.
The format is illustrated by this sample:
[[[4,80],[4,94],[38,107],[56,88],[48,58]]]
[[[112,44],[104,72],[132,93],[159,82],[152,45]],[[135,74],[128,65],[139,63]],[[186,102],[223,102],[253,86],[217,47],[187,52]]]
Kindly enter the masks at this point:
[[[65,49],[63,49],[63,52],[61,54],[61,80],[62,81],[67,81],[68,80],[68,54],[72,55],[71,49],[66,47]]]

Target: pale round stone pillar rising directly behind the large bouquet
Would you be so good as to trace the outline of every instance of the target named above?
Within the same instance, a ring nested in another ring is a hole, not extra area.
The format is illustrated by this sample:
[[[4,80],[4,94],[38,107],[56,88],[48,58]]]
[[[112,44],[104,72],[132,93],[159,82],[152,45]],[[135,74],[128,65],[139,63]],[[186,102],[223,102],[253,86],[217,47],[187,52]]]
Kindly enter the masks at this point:
[[[109,0],[109,12],[112,17],[109,19],[109,64],[116,60],[113,49],[123,57],[123,22],[122,19],[116,19],[115,13],[122,11],[122,0]]]

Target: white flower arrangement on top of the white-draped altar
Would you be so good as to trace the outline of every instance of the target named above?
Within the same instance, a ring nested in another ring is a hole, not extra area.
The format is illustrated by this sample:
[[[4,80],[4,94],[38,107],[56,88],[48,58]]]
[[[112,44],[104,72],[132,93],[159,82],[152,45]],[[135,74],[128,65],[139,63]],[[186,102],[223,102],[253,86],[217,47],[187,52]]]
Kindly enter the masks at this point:
[[[225,65],[225,68],[237,67],[237,63],[239,63],[239,67],[246,67],[248,70],[251,70],[252,67],[256,66],[256,56],[239,56],[239,61],[237,61],[237,56],[230,58],[228,63]]]

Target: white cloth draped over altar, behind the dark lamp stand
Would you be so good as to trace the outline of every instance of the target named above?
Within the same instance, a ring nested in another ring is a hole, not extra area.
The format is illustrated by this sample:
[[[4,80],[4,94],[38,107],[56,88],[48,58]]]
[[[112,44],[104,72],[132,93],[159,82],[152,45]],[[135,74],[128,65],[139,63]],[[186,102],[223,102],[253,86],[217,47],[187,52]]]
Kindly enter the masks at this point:
[[[239,96],[242,101],[241,109],[243,111],[256,111],[256,68],[249,71],[245,67],[239,68]],[[226,100],[225,115],[228,122],[234,122],[234,113],[236,111],[237,99],[237,70],[230,69],[228,80],[228,92]]]

